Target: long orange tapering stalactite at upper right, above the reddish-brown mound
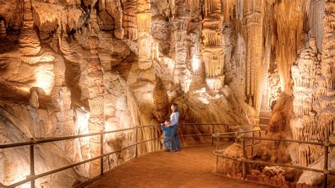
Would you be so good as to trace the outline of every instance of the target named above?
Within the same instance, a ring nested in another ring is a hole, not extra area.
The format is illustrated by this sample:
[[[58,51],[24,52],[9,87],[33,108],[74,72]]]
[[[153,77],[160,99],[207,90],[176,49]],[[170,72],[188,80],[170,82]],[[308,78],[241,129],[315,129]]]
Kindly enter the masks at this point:
[[[297,58],[298,47],[303,33],[303,16],[305,0],[283,0],[274,4],[274,18],[278,40],[276,40],[276,62],[281,77],[282,90],[291,92],[290,67]],[[295,16],[293,16],[295,15]]]

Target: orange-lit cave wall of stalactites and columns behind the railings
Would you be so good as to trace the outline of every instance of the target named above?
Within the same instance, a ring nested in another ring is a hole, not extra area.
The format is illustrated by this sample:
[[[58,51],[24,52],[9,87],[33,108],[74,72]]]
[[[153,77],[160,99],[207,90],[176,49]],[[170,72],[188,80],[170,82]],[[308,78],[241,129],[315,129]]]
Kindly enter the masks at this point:
[[[334,10],[329,0],[0,0],[0,144],[159,124],[172,102],[182,123],[233,129],[257,122],[275,101],[268,136],[334,142]],[[288,95],[279,99],[281,91]],[[107,134],[105,153],[134,144],[135,134]],[[142,129],[138,139],[161,134]],[[36,171],[95,157],[99,141],[40,146]],[[317,147],[266,147],[259,160],[320,164]],[[147,142],[139,153],[161,148]],[[0,151],[2,184],[28,175],[22,153]],[[105,170],[134,155],[129,148],[104,158]],[[70,187],[99,167],[81,165],[37,185]]]

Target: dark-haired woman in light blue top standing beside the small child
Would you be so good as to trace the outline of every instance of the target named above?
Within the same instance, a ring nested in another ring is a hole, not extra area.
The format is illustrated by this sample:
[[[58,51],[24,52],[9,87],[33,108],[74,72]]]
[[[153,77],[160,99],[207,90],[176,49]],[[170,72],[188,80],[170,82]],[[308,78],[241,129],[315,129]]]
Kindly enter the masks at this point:
[[[171,127],[171,134],[170,134],[170,141],[172,151],[180,151],[182,147],[180,146],[179,136],[177,135],[178,125],[179,125],[179,110],[178,105],[173,103],[171,105],[172,114],[170,115],[170,127]]]

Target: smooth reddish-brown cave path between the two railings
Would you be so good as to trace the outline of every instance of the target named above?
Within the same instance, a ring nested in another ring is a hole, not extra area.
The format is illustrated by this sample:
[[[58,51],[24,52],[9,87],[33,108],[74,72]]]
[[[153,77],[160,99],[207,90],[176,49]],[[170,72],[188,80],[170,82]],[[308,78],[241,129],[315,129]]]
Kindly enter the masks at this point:
[[[86,187],[269,187],[216,175],[214,150],[215,146],[194,146],[141,155]]]

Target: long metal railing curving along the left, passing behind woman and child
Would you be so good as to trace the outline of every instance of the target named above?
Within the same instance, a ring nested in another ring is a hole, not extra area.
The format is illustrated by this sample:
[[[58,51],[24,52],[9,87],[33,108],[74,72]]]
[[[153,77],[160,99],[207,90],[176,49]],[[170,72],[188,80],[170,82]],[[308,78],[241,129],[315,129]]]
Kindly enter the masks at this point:
[[[228,124],[180,124],[180,127],[184,127],[184,126],[211,126],[211,133],[208,134],[187,134],[187,135],[180,135],[180,137],[185,137],[185,136],[212,136],[212,134],[214,134],[215,132],[215,127],[216,126],[224,126],[226,128],[226,130],[229,129]],[[108,155],[112,155],[114,153],[117,153],[119,151],[123,151],[125,149],[131,148],[131,147],[136,147],[136,154],[135,154],[135,158],[137,158],[139,156],[139,145],[142,143],[146,143],[148,141],[160,141],[161,138],[160,136],[158,136],[158,138],[155,139],[148,139],[145,141],[139,141],[139,130],[142,130],[143,128],[146,127],[156,127],[157,129],[160,130],[160,125],[145,125],[145,126],[141,126],[141,127],[131,127],[131,128],[127,128],[127,129],[119,129],[119,130],[113,130],[113,131],[100,131],[97,133],[90,133],[90,134],[81,134],[81,135],[75,135],[75,136],[64,136],[64,137],[55,137],[55,138],[47,138],[47,139],[40,139],[40,140],[34,140],[34,139],[30,139],[30,141],[25,141],[25,142],[20,142],[20,143],[6,143],[6,144],[1,144],[0,145],[0,149],[4,149],[4,148],[14,148],[14,147],[20,147],[20,146],[30,146],[30,175],[28,175],[26,177],[25,180],[22,180],[20,182],[16,182],[14,184],[10,184],[8,185],[8,187],[16,187],[19,186],[21,184],[25,184],[26,182],[30,182],[30,187],[35,187],[35,180],[40,178],[40,177],[45,177],[47,175],[52,175],[56,172],[60,172],[62,170],[66,170],[69,168],[74,168],[78,165],[82,165],[84,163],[89,163],[93,160],[98,160],[100,159],[100,175],[103,175],[104,173],[104,167],[103,167],[103,158],[107,157]],[[136,143],[131,144],[129,146],[126,146],[124,148],[119,148],[115,151],[111,151],[109,153],[104,153],[103,151],[103,137],[105,134],[112,134],[112,133],[117,133],[117,132],[122,132],[122,131],[129,131],[129,130],[135,130],[136,129]],[[51,143],[54,141],[66,141],[66,140],[70,140],[70,139],[79,139],[79,138],[83,138],[83,137],[88,137],[88,136],[98,136],[100,135],[100,155],[96,156],[94,158],[90,158],[88,160],[83,160],[81,162],[78,163],[74,163],[71,165],[67,165],[65,167],[62,168],[57,168],[55,170],[50,170],[47,172],[43,172],[40,173],[38,175],[35,175],[35,152],[34,152],[34,146],[37,144],[41,144],[41,143]],[[212,142],[211,144],[213,144],[213,138],[212,138]],[[158,151],[158,150],[156,150]]]

